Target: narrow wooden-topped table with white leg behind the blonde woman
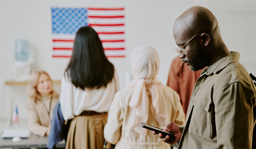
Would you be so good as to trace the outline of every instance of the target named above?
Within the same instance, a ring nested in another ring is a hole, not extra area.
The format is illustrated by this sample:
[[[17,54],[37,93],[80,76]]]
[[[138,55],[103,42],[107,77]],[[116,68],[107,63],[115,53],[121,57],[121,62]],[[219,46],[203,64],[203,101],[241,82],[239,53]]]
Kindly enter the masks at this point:
[[[61,85],[61,80],[53,80],[53,85]],[[6,114],[7,114],[7,124],[10,126],[12,125],[12,113],[13,113],[13,92],[12,92],[12,86],[27,86],[28,81],[24,82],[15,82],[15,81],[6,81]]]

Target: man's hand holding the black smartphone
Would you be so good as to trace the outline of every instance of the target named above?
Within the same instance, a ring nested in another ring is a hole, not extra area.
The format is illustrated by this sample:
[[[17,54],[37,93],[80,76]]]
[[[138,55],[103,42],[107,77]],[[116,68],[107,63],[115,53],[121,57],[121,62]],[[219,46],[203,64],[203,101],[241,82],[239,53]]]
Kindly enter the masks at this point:
[[[157,132],[152,131],[154,135],[158,134],[158,137],[163,139],[163,142],[172,145],[180,141],[182,131],[180,127],[177,126],[177,124],[173,122],[169,122],[166,126],[163,126],[161,129],[163,129],[163,131],[172,132],[175,135],[175,138],[170,138],[169,135],[166,135],[166,137],[164,138],[163,134],[161,133],[158,134]]]

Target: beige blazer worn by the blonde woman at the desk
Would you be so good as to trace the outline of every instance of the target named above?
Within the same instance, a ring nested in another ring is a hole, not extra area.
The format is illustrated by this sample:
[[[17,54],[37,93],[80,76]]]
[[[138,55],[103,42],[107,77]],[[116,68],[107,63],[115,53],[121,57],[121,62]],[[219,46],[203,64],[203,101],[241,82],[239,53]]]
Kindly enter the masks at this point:
[[[59,95],[53,93],[50,115],[52,117],[56,103],[59,101]],[[42,100],[29,100],[26,103],[28,112],[29,130],[35,134],[44,136],[51,124],[50,116]]]

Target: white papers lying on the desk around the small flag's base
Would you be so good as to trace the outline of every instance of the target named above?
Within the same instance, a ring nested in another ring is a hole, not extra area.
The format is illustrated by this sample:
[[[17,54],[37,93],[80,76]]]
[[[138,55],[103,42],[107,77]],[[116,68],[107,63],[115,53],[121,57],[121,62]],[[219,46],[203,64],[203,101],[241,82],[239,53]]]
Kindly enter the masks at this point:
[[[29,138],[31,136],[31,132],[27,129],[18,129],[17,135],[20,138]],[[16,129],[5,129],[1,138],[14,138],[16,137]]]

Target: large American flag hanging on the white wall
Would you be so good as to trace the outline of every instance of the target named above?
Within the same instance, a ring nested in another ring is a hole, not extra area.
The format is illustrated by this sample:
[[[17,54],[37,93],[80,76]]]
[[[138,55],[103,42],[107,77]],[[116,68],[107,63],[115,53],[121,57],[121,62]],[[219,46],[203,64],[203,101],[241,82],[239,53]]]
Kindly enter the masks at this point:
[[[124,8],[52,8],[53,57],[70,57],[76,32],[91,26],[107,57],[125,57]]]

